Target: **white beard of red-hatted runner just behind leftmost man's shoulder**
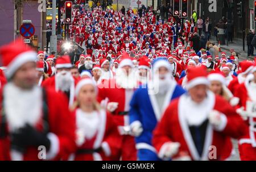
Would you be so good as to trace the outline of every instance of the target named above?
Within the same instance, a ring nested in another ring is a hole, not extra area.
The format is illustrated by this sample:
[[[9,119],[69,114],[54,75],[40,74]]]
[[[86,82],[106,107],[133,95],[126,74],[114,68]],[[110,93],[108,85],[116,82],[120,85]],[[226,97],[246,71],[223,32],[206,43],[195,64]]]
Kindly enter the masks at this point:
[[[61,91],[69,91],[71,84],[73,82],[73,77],[69,71],[61,71],[56,74],[56,84],[58,85],[57,89]]]

